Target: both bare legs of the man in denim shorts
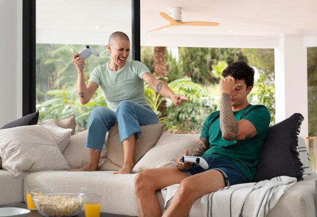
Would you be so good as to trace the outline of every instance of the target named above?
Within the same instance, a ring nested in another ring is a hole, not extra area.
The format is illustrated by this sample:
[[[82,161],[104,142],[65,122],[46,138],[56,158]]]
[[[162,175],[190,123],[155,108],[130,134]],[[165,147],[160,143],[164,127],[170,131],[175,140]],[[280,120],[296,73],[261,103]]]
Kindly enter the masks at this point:
[[[178,183],[178,190],[163,216],[187,216],[196,199],[226,186],[222,173],[217,170],[190,177],[176,167],[146,170],[135,178],[140,216],[162,216],[155,191]]]

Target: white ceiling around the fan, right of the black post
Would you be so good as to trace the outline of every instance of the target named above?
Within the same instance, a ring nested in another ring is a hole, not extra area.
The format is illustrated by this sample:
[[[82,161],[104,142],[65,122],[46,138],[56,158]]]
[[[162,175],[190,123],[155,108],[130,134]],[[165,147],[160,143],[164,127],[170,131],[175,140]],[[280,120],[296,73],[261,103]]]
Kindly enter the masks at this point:
[[[159,12],[168,14],[171,7],[182,8],[182,21],[220,25],[169,27],[164,34],[270,36],[317,32],[316,0],[141,0],[141,32],[168,24]]]

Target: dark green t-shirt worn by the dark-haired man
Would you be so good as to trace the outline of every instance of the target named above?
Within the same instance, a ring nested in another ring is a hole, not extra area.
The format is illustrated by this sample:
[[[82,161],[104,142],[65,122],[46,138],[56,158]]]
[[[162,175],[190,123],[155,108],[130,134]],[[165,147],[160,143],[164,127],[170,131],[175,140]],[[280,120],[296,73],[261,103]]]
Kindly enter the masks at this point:
[[[270,113],[264,105],[249,104],[240,111],[233,112],[237,121],[246,119],[256,128],[257,136],[237,141],[226,141],[220,130],[220,111],[216,111],[206,119],[201,137],[209,139],[210,147],[203,156],[218,156],[231,159],[250,180],[256,173],[258,157],[267,135]]]

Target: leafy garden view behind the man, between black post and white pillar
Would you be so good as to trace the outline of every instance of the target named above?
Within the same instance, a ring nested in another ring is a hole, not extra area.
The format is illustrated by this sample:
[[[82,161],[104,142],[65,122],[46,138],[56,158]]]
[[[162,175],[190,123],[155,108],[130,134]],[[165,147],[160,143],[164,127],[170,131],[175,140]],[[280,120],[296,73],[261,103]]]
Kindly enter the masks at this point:
[[[153,75],[167,81],[174,92],[190,98],[183,105],[175,106],[169,99],[157,100],[154,92],[145,85],[149,104],[165,123],[165,130],[200,134],[208,115],[220,109],[222,71],[240,60],[248,62],[255,70],[255,85],[248,95],[249,102],[266,105],[273,125],[274,49],[141,46],[141,62]]]

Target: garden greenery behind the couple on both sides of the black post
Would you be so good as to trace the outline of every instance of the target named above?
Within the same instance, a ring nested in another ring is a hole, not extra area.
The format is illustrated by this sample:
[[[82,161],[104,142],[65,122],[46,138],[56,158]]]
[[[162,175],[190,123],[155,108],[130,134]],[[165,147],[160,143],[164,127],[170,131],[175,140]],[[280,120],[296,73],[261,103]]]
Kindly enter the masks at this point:
[[[106,62],[110,55],[106,46],[92,45],[99,57],[86,59],[85,79],[92,70]],[[76,117],[76,131],[87,129],[90,113],[96,106],[107,106],[98,88],[86,105],[78,102],[77,73],[72,55],[84,45],[36,45],[36,108],[39,120]],[[255,87],[248,98],[252,104],[265,104],[274,124],[274,50],[199,47],[141,47],[143,62],[155,77],[165,80],[171,89],[190,98],[182,106],[157,95],[145,84],[146,98],[153,111],[173,133],[200,133],[207,116],[219,110],[219,81],[228,64],[243,60],[255,68]],[[129,57],[131,59],[131,56]]]

